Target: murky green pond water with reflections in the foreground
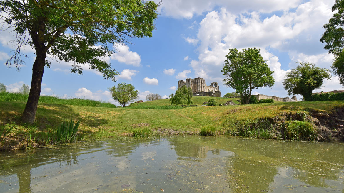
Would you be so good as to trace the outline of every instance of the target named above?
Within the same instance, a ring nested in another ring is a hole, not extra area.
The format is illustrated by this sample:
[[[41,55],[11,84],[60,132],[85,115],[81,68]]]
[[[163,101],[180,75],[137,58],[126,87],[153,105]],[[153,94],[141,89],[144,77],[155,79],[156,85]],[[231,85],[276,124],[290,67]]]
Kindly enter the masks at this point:
[[[0,192],[344,192],[344,144],[228,137],[1,152]]]

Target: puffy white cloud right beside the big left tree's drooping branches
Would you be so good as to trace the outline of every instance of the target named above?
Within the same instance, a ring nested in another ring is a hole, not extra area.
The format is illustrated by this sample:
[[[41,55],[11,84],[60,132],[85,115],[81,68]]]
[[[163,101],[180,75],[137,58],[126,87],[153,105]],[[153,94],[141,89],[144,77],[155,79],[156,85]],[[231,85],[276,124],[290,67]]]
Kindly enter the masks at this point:
[[[140,66],[140,55],[137,52],[129,51],[129,46],[117,44],[114,47],[116,47],[117,51],[111,55],[111,59],[115,59],[124,64]]]

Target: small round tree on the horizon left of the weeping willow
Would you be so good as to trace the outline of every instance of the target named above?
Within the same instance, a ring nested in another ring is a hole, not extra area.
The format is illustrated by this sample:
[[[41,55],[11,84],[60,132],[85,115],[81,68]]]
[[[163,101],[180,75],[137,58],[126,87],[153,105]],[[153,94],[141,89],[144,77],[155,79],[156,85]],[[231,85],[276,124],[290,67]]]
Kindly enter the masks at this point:
[[[132,84],[126,83],[119,83],[116,86],[109,87],[109,91],[111,92],[112,98],[119,102],[123,107],[126,106],[127,103],[138,99],[139,91],[135,90],[135,87]]]

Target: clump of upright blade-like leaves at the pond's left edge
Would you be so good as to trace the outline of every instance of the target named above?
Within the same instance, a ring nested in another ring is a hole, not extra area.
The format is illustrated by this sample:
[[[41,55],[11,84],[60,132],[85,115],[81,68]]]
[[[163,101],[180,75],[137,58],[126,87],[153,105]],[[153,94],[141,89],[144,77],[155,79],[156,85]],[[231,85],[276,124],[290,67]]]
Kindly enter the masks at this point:
[[[56,143],[69,143],[75,141],[77,138],[78,127],[81,119],[74,124],[71,119],[70,122],[63,120],[61,125],[59,125],[54,133],[54,141]]]

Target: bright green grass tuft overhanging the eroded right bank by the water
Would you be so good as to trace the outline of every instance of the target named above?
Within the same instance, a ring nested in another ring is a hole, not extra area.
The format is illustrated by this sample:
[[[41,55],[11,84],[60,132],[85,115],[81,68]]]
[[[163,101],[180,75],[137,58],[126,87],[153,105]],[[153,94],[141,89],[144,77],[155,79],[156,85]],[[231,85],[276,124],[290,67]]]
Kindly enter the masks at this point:
[[[284,136],[286,139],[314,141],[316,130],[310,122],[306,121],[286,121],[286,130]]]

